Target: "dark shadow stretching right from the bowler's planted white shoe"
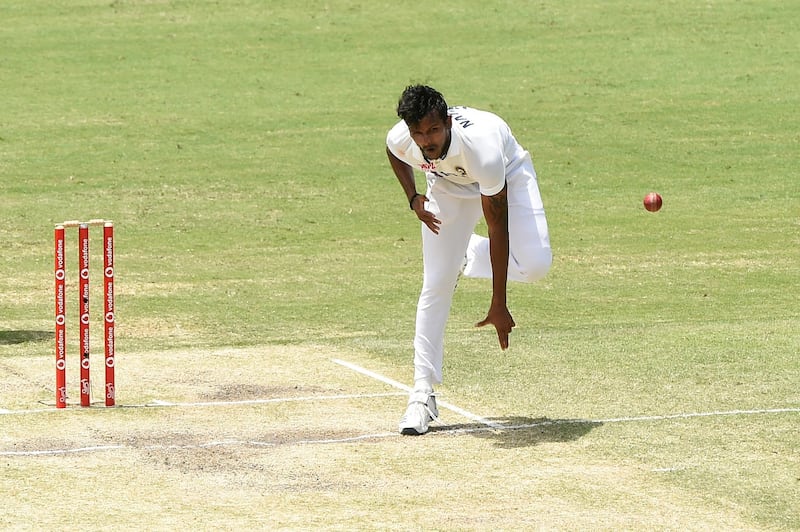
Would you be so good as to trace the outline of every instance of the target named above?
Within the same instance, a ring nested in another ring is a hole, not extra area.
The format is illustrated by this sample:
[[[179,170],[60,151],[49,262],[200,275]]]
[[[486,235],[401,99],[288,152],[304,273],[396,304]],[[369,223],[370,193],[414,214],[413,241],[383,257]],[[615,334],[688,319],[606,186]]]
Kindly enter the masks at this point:
[[[431,425],[431,432],[448,431],[471,434],[476,438],[493,440],[497,447],[506,449],[531,447],[540,443],[575,441],[602,423],[586,419],[549,419],[525,416],[508,416],[487,419],[486,423],[461,425]]]

